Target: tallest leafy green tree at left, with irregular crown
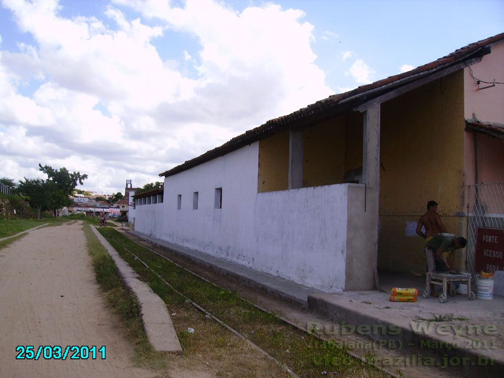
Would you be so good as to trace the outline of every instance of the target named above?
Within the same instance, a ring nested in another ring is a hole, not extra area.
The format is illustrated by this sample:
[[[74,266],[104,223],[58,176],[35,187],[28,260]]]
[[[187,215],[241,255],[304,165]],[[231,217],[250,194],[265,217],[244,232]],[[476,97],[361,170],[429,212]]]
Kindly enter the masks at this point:
[[[72,203],[69,197],[74,192],[77,183],[83,185],[82,181],[88,178],[88,175],[81,175],[80,172],[75,171],[70,173],[65,167],[56,170],[48,165],[42,167],[40,163],[38,166],[40,167],[39,170],[48,177],[46,183],[50,190],[49,207],[52,209],[54,217],[56,217],[59,209]]]

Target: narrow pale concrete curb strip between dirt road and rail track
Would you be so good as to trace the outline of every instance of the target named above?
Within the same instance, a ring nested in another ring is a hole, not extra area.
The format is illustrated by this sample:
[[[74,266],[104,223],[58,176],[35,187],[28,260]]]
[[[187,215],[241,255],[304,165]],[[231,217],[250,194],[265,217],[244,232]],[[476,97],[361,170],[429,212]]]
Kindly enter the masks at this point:
[[[91,228],[112,257],[124,283],[135,293],[140,303],[147,338],[154,349],[163,352],[181,352],[182,348],[164,301],[147,284],[138,279],[137,273],[121,259],[102,234],[94,226]]]

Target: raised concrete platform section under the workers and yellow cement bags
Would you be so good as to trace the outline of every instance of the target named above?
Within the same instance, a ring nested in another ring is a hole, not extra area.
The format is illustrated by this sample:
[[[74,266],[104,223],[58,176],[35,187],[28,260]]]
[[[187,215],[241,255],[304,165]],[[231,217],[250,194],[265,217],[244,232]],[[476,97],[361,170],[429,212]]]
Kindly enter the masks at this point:
[[[421,293],[425,281],[419,282],[413,287]],[[411,282],[396,286],[411,287]],[[502,376],[502,296],[471,301],[467,295],[456,295],[440,303],[437,298],[419,294],[417,301],[410,303],[391,302],[390,291],[347,291],[310,295],[308,308],[334,324],[349,325],[344,332],[363,332],[380,347],[400,348],[411,356],[432,356],[438,366],[446,362],[446,367],[456,369],[460,376]],[[334,332],[334,324],[329,324],[330,332]],[[327,326],[316,327],[317,332],[325,332]]]

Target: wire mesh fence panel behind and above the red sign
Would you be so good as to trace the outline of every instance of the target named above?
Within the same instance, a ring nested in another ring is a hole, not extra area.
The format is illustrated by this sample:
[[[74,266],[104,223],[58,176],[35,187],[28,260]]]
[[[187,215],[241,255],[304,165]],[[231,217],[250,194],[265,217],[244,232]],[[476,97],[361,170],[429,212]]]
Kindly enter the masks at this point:
[[[478,227],[504,228],[504,181],[469,185],[467,263],[475,279],[474,254]]]

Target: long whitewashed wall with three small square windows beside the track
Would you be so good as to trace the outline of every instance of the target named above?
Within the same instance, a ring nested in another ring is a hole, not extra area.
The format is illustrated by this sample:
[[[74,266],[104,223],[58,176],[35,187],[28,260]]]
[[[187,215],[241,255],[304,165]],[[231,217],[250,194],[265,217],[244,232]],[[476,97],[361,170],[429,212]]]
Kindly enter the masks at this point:
[[[307,286],[343,289],[348,185],[258,194],[258,156],[254,143],[167,177],[164,202],[137,206],[135,229]],[[222,209],[214,208],[217,187]]]

